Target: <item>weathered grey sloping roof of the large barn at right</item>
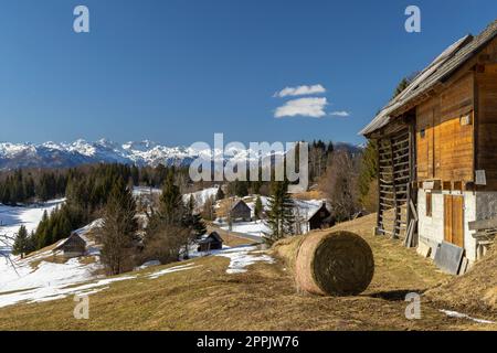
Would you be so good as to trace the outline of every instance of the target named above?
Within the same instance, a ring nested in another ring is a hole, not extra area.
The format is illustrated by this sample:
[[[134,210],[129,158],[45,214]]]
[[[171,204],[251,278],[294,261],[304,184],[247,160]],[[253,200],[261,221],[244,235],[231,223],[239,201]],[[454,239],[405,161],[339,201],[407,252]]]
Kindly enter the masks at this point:
[[[489,24],[480,34],[463,36],[440,54],[426,68],[424,68],[412,83],[374,117],[359,133],[370,135],[388,125],[395,116],[395,111],[403,106],[427,94],[431,88],[446,79],[457,68],[472,58],[482,47],[497,34],[497,20]]]

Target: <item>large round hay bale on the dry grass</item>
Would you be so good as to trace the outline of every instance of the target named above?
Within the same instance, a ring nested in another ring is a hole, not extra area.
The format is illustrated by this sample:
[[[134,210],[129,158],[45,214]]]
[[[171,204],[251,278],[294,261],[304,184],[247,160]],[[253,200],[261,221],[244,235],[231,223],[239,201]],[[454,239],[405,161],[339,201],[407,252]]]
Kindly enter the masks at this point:
[[[297,288],[321,296],[356,296],[374,274],[373,254],[357,234],[339,231],[305,237],[295,261]]]

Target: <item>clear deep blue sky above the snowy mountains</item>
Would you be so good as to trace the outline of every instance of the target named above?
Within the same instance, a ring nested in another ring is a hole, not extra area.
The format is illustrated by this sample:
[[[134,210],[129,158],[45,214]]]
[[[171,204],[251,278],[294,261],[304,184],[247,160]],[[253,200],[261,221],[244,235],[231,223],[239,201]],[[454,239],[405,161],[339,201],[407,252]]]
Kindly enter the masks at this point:
[[[77,4],[89,33],[73,31]],[[421,33],[404,31],[409,4]],[[358,143],[403,76],[496,14],[495,0],[2,0],[0,141]],[[275,97],[300,85],[326,92]],[[318,113],[326,98],[326,116],[275,118],[299,98]]]

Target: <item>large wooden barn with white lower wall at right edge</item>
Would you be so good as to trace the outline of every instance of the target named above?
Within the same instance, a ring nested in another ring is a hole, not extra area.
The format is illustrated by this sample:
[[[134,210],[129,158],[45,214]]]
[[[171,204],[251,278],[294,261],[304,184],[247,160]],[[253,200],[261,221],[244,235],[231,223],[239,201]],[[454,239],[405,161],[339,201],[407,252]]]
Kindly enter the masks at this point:
[[[497,21],[447,47],[361,131],[377,140],[377,233],[480,254],[497,217]]]

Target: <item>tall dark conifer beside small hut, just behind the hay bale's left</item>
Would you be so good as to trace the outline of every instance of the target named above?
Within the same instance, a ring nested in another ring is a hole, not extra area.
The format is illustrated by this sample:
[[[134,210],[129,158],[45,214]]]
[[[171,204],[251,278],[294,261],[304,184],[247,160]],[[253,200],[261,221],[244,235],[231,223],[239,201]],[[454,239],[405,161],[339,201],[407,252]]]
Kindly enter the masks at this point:
[[[268,245],[295,233],[294,202],[288,194],[288,181],[275,181],[271,189],[271,196],[267,201],[269,234],[264,237]]]

